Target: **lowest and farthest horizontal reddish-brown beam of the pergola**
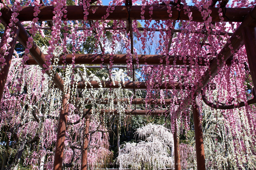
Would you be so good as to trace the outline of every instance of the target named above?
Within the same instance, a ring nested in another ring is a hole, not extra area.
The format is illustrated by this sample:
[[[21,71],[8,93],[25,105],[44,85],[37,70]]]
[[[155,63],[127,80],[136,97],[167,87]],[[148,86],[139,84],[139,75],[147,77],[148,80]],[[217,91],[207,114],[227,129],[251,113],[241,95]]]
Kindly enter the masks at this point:
[[[87,111],[88,109],[86,109]],[[120,115],[121,111],[118,111],[117,109],[115,110],[107,110],[107,109],[101,109],[94,111],[94,113],[99,113],[100,115],[105,115],[105,114],[110,114],[110,115]],[[91,114],[91,111],[89,112]],[[125,115],[149,115],[149,116],[165,116],[169,114],[168,110],[124,110]]]

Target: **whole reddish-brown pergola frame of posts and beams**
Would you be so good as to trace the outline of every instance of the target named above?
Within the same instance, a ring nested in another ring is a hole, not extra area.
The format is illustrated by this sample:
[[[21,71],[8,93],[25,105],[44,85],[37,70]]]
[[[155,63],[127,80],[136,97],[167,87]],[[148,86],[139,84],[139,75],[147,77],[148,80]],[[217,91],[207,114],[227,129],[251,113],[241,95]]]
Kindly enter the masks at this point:
[[[219,8],[215,8],[215,3],[217,3],[217,0],[214,1],[214,4],[212,4],[209,8],[211,9],[210,16],[212,17],[212,22],[220,22],[221,19],[219,17]],[[225,5],[227,4],[226,0],[222,0],[221,2],[222,6],[221,8],[225,8]],[[167,12],[167,6],[166,5],[160,5],[159,7],[153,8],[153,15],[149,15],[149,11],[151,6],[146,6],[144,8],[145,15],[144,19],[152,19],[152,20],[189,20],[189,17],[186,13],[186,11],[182,8],[182,5],[180,7],[180,11],[177,9],[176,5],[172,5],[172,17],[169,17],[169,13]],[[39,20],[41,21],[52,21],[53,20],[53,6],[42,6],[39,8],[41,11],[38,15]],[[141,7],[138,5],[132,5],[131,0],[127,0],[125,5],[123,6],[115,6],[115,10],[113,13],[109,13],[108,20],[141,20],[140,12]],[[97,9],[95,13],[93,13],[93,9]],[[88,20],[101,20],[102,16],[106,14],[106,9],[108,9],[108,6],[92,6],[89,9],[89,15],[87,16]],[[192,21],[196,22],[204,22],[204,19],[197,7],[189,6],[190,11],[192,12]],[[82,6],[67,6],[67,18],[68,20],[83,20],[83,7]],[[129,14],[128,14],[129,10]],[[4,7],[1,9],[2,15],[0,16],[1,22],[7,26],[10,23],[11,14],[12,11],[4,5]],[[19,22],[15,24],[14,33],[11,35],[11,38],[13,39],[12,42],[10,42],[10,47],[8,48],[9,54],[5,56],[5,64],[2,66],[1,74],[0,74],[0,100],[3,95],[4,85],[7,79],[8,71],[11,64],[12,55],[14,52],[16,41],[18,40],[20,44],[26,48],[26,43],[30,37],[30,35],[27,33],[25,28],[22,26],[20,22],[22,21],[32,21],[34,19],[33,16],[34,13],[34,7],[23,7],[22,11],[19,12],[18,19]],[[231,49],[229,46],[233,47],[233,50],[239,50],[241,46],[245,45],[246,53],[248,57],[249,62],[249,70],[251,73],[254,89],[256,90],[256,7],[254,8],[225,8],[225,16],[224,16],[224,22],[241,22],[240,26],[237,27],[236,31],[233,33],[229,33],[231,35],[229,41],[230,43],[227,43],[222,50],[219,52],[217,57],[212,58],[210,61],[210,66],[204,73],[204,76],[202,76],[200,83],[196,84],[196,90],[194,92],[189,93],[188,97],[183,102],[176,102],[176,105],[180,105],[180,108],[188,107],[191,103],[195,104],[195,108],[193,108],[193,119],[195,124],[195,140],[196,140],[196,157],[197,157],[197,169],[205,170],[205,156],[204,156],[204,145],[203,145],[203,132],[202,132],[202,123],[200,121],[200,112],[199,112],[199,106],[197,104],[197,95],[200,93],[201,89],[204,88],[214,76],[217,75],[218,69],[223,66],[223,63],[230,64],[231,62]],[[131,23],[131,22],[129,22]],[[50,28],[45,28],[50,29]],[[63,28],[61,28],[63,29]],[[81,28],[84,29],[84,28]],[[112,28],[106,28],[106,30],[111,30]],[[131,24],[128,24],[127,29],[129,34],[132,35],[132,29]],[[143,28],[141,28],[143,30]],[[173,32],[179,32],[181,30],[174,29]],[[4,32],[5,34],[6,32]],[[198,34],[199,32],[195,32],[195,34]],[[218,35],[224,35],[223,32],[215,32]],[[213,33],[213,34],[215,34]],[[205,35],[207,38],[208,34]],[[170,43],[169,42],[169,49],[170,49]],[[3,42],[1,42],[2,45]],[[0,46],[1,46],[0,45]],[[43,67],[46,59],[45,55],[42,53],[42,51],[37,47],[35,42],[33,42],[33,47],[29,51],[29,60],[26,62],[27,65],[39,65],[42,67],[43,70],[45,68]],[[131,36],[131,53],[133,54],[133,39]],[[72,63],[72,55],[71,54],[65,54],[66,59],[65,62]],[[90,64],[90,65],[99,65],[101,64],[101,55],[96,55],[93,57],[93,54],[75,54],[76,55],[76,64]],[[113,63],[114,65],[126,65],[127,64],[127,58],[125,55],[116,54],[113,57]],[[95,59],[96,58],[96,59]],[[158,65],[160,58],[165,58],[165,56],[161,55],[138,55],[138,62],[140,65],[143,65],[146,62],[148,65]],[[184,65],[184,60],[178,60],[177,58],[180,58],[180,56],[170,56],[169,57],[169,65]],[[60,55],[59,65],[63,64],[63,55]],[[166,60],[163,59],[163,65],[165,65]],[[188,61],[187,61],[188,62]],[[104,58],[104,64],[108,65],[110,64],[110,55],[106,55]],[[90,82],[89,84],[81,81],[78,82],[78,88],[99,88],[99,86],[103,86],[103,88],[119,88],[119,83],[121,83],[122,88],[125,89],[147,89],[147,86],[144,82],[136,82],[135,81],[135,73],[134,68],[136,65],[136,60],[133,58],[133,81],[130,82],[115,82],[115,85],[113,82]],[[199,66],[205,66],[206,63],[202,59],[200,61]],[[97,66],[95,66],[97,67]],[[118,66],[117,66],[118,67]],[[121,66],[120,66],[121,67]],[[53,69],[53,67],[51,67]],[[46,71],[46,74],[49,74],[48,71]],[[59,88],[61,91],[63,90],[63,80],[59,76],[57,72],[54,73],[52,77],[52,81],[54,82],[56,88]],[[124,86],[125,85],[125,86]],[[165,88],[163,86],[163,88]],[[167,89],[183,89],[184,85],[177,83],[175,86],[167,86]],[[214,88],[214,85],[213,85]],[[135,90],[134,90],[135,92]],[[65,140],[65,130],[67,126],[67,115],[68,115],[68,99],[69,94],[65,94],[62,99],[63,109],[60,111],[60,119],[59,119],[59,127],[58,127],[58,134],[57,134],[57,141],[56,141],[56,151],[54,156],[54,170],[61,170],[62,167],[62,158],[63,158],[63,150],[64,150],[64,140]],[[104,104],[107,102],[108,99],[103,99],[101,101],[98,101],[100,104]],[[146,99],[143,98],[134,98],[132,100],[132,104],[144,104]],[[90,103],[90,98],[87,98],[86,101]],[[124,98],[123,101],[128,101],[127,98]],[[159,100],[150,100],[150,104],[161,104]],[[172,100],[166,99],[166,104],[172,103]],[[110,112],[113,114],[118,114],[117,110],[101,110],[100,114],[103,114],[105,112]],[[176,113],[182,112],[181,109],[177,109]],[[83,146],[82,146],[82,161],[81,161],[81,170],[87,169],[87,146],[88,146],[88,135],[89,135],[89,121],[90,121],[90,109],[83,111],[83,117],[85,117],[85,129],[84,129],[84,136],[83,136]],[[127,115],[158,115],[158,114],[166,114],[166,111],[148,111],[148,110],[133,110],[133,111],[125,111],[125,114]],[[180,170],[180,156],[178,153],[178,134],[177,134],[177,120],[175,124],[175,131],[174,131],[174,157],[175,157],[175,169]]]

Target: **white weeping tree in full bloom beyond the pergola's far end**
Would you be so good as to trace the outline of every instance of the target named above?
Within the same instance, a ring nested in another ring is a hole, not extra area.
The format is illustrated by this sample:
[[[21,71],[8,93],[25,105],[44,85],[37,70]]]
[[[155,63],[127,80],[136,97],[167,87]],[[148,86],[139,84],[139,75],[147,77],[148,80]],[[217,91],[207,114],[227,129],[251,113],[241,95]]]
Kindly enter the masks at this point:
[[[163,125],[148,124],[136,130],[139,143],[126,143],[116,162],[123,168],[159,169],[173,167],[173,134]]]

